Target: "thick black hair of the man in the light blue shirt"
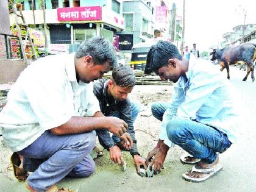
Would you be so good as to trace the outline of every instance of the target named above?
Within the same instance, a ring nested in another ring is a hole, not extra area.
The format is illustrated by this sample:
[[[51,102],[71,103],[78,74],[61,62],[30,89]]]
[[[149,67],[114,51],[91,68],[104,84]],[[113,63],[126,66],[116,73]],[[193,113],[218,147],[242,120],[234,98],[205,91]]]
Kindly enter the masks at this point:
[[[148,52],[144,73],[149,74],[167,66],[168,60],[174,58],[182,60],[182,55],[180,55],[176,46],[169,41],[158,41],[157,44],[151,46]]]

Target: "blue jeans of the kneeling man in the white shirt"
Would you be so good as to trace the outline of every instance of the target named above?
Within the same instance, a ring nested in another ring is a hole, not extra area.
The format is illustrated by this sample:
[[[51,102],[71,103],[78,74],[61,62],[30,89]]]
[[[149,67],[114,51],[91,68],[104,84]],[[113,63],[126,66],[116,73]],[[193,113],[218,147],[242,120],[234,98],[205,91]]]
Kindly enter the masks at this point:
[[[46,130],[34,143],[19,151],[26,160],[37,162],[38,168],[27,177],[35,191],[46,191],[65,176],[88,177],[95,164],[90,152],[96,143],[95,131],[74,135],[53,135]]]

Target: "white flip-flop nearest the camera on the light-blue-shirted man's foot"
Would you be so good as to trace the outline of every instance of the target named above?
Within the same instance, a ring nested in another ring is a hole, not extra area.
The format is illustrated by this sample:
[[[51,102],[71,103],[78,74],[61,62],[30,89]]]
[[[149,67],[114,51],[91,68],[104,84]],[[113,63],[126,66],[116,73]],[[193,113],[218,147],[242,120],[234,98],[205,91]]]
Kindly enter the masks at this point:
[[[211,172],[208,172],[208,173],[205,173],[205,176],[204,177],[201,177],[201,178],[193,178],[193,177],[190,177],[190,176],[187,176],[185,173],[182,174],[182,177],[183,179],[185,180],[188,180],[190,182],[203,182],[207,179],[209,179],[210,177],[214,176],[215,174],[217,174],[219,171],[221,171],[223,169],[223,166],[222,165],[214,165],[213,166],[213,170]],[[202,170],[204,169],[196,169],[197,171],[193,171],[193,169],[191,170],[191,172],[202,172]]]

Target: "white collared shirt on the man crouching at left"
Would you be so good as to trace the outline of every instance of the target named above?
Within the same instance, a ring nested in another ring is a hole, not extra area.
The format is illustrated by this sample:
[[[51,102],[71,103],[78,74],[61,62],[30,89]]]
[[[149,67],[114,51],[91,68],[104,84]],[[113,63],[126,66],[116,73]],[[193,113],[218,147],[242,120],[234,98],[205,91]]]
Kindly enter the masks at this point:
[[[0,128],[12,151],[21,151],[72,116],[100,111],[93,82],[77,83],[74,54],[38,59],[20,74],[0,113]]]

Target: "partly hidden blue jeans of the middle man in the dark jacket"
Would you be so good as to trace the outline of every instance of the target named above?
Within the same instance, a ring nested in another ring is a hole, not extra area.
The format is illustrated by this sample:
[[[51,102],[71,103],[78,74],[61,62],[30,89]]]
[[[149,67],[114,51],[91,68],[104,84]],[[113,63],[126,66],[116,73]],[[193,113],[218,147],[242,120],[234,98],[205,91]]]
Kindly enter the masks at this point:
[[[140,113],[140,111],[141,111],[141,104],[140,104],[140,101],[137,101],[137,100],[132,100],[132,101],[130,101],[130,103],[131,103],[131,107],[132,107],[132,123],[134,123],[138,116],[138,113]],[[108,116],[115,116],[115,117],[120,118],[120,113],[115,112],[115,113],[111,113]],[[121,141],[118,137],[116,137],[116,135],[112,135],[112,139],[115,143],[118,143],[119,141]]]

